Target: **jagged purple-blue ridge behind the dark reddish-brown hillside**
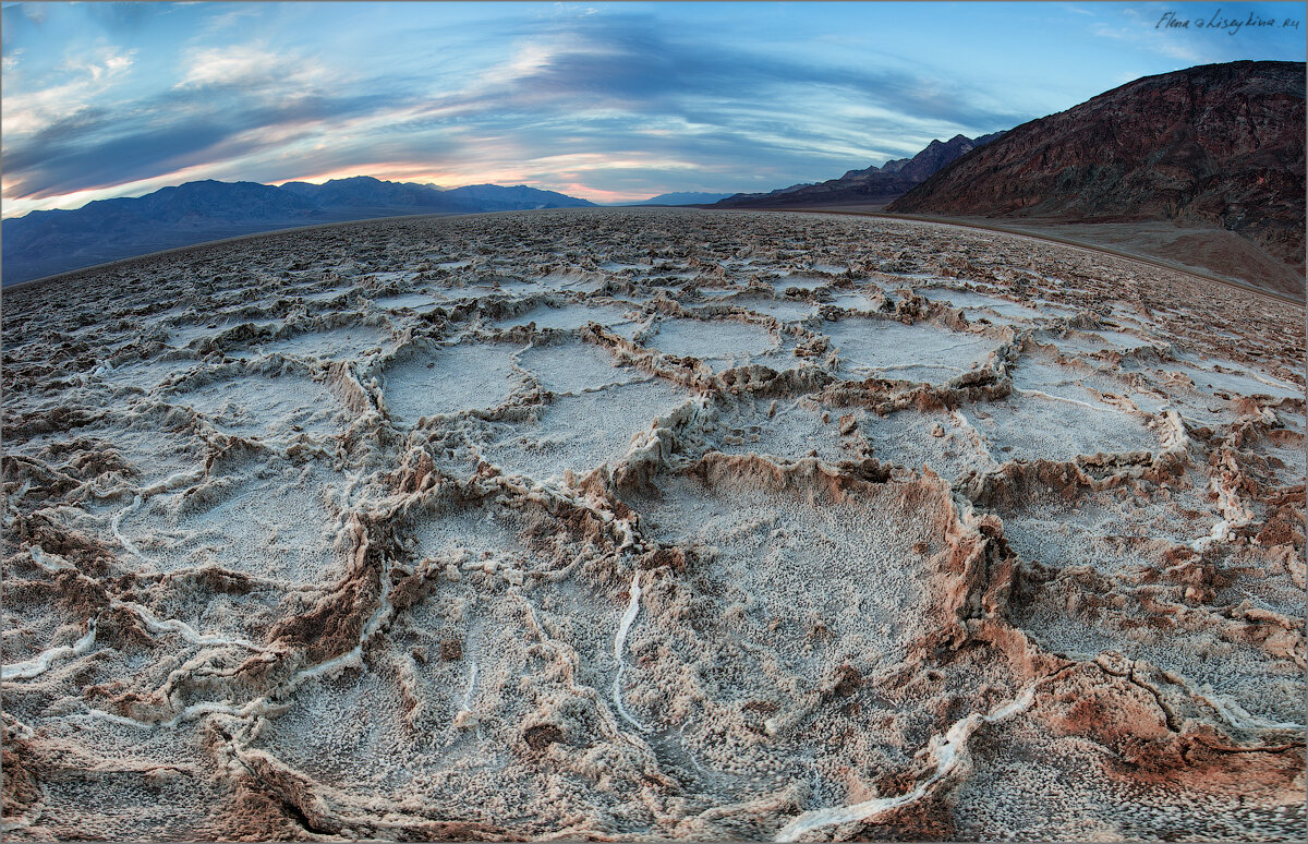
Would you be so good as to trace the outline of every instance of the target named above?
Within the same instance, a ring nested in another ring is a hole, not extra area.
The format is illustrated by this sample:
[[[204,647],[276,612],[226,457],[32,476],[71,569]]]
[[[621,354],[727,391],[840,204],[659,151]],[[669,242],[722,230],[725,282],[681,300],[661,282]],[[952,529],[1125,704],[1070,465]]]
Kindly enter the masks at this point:
[[[947,141],[933,140],[926,149],[912,158],[887,161],[882,166],[863,170],[850,170],[838,179],[818,185],[791,185],[768,194],[735,194],[717,203],[721,208],[780,208],[786,205],[829,205],[837,203],[861,203],[883,205],[920,183],[929,179],[937,170],[951,164],[977,147],[984,147],[1003,132],[967,137],[955,135]]]

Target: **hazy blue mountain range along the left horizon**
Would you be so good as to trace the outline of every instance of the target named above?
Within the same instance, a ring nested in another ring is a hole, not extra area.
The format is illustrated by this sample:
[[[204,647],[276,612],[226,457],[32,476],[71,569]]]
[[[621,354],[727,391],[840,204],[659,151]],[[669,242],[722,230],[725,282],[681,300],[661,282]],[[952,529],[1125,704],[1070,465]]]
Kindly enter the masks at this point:
[[[139,199],[105,199],[76,211],[34,211],[3,224],[4,284],[165,249],[302,225],[421,213],[591,207],[534,187],[383,182],[360,175],[323,185],[187,182]]]

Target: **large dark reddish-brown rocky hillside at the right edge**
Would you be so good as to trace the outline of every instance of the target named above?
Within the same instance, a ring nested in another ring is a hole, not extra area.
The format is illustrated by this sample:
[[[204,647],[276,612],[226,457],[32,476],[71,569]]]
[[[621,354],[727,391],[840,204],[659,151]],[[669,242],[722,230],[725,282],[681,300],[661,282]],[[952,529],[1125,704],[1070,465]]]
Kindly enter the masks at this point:
[[[1129,82],[1011,130],[888,211],[1172,220],[1228,229],[1303,272],[1304,64],[1207,64]]]

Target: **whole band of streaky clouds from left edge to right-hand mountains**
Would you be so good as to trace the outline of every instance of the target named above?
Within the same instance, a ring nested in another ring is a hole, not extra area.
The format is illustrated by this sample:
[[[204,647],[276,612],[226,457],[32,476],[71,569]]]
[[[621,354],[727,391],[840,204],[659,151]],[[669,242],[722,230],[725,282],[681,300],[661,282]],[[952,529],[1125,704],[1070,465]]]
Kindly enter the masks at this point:
[[[129,52],[71,62],[75,86],[17,110],[7,98],[4,196],[34,207],[169,173],[409,173],[447,185],[589,185],[606,196],[708,174],[719,183],[700,187],[764,190],[1037,116],[875,54],[857,65],[800,62],[587,8],[502,27],[481,54],[425,56],[425,73],[407,56],[386,65],[403,73],[366,76],[347,60],[357,56],[275,48],[268,35],[187,43],[162,85],[115,101],[93,94],[128,73]],[[10,135],[16,111],[21,131]]]

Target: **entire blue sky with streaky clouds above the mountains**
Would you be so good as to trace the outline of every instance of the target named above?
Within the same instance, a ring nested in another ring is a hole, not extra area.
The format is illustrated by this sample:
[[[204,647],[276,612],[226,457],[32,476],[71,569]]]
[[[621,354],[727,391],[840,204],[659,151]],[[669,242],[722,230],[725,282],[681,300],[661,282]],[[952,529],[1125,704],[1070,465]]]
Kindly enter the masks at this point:
[[[1304,9],[5,3],[0,209],[349,175],[599,203],[768,191],[1007,130],[1141,76],[1303,62]]]

